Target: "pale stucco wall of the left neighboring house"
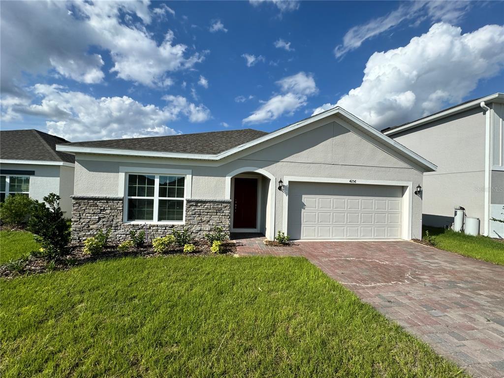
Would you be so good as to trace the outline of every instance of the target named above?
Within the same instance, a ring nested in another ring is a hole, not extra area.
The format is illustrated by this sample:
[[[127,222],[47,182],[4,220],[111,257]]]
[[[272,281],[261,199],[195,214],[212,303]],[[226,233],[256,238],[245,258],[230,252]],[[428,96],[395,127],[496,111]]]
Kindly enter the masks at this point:
[[[61,197],[61,209],[65,217],[72,217],[72,199],[74,190],[74,167],[45,164],[2,163],[2,169],[34,171],[30,177],[30,198],[43,201],[49,193]],[[23,176],[23,174],[10,174]]]

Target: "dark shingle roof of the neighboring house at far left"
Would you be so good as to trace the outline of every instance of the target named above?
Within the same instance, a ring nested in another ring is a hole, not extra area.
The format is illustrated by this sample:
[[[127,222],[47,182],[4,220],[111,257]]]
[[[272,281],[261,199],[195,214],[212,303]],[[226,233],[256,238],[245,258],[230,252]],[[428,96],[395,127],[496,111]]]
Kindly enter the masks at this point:
[[[38,130],[3,130],[0,132],[0,159],[42,160],[74,163],[75,156],[56,151],[63,138]]]

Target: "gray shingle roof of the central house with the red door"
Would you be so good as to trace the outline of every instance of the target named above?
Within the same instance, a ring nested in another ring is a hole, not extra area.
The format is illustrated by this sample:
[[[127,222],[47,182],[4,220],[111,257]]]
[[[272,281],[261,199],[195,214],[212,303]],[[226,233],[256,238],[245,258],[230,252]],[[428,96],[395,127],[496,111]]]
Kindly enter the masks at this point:
[[[210,133],[179,134],[164,137],[108,139],[74,142],[66,146],[111,148],[186,154],[219,154],[243,143],[266,135],[264,131],[244,129],[215,131]]]

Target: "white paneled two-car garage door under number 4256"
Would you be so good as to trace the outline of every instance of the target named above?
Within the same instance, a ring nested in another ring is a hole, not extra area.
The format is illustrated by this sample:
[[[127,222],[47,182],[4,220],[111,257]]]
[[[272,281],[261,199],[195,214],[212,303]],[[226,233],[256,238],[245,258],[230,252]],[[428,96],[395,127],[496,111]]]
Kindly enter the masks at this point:
[[[287,233],[293,239],[398,239],[401,186],[289,183]]]

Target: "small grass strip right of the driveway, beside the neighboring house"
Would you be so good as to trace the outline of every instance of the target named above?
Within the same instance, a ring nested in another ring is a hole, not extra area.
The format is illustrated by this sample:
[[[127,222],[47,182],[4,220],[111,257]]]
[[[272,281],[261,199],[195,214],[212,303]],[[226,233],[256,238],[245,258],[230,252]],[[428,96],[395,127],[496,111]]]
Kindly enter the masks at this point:
[[[486,236],[472,236],[453,230],[424,227],[432,236],[435,247],[473,259],[504,265],[504,243]]]

